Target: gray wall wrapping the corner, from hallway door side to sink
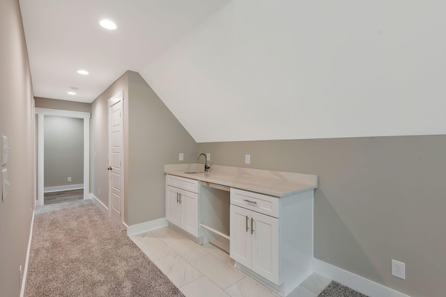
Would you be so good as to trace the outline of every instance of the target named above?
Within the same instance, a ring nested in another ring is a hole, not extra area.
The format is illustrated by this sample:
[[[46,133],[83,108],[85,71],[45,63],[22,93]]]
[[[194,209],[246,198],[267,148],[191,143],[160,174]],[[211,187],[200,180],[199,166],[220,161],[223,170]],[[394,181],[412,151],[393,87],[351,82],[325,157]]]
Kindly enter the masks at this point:
[[[128,71],[91,106],[91,193],[108,202],[108,105],[124,91],[124,222],[164,218],[164,164],[197,160],[197,143],[137,72]],[[101,195],[99,191],[101,190]]]

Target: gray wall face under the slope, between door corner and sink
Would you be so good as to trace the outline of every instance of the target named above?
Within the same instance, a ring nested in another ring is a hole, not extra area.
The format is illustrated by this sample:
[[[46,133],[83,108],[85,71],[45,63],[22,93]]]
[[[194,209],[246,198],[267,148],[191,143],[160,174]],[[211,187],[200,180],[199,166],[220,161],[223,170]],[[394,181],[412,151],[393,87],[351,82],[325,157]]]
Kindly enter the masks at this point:
[[[197,143],[137,72],[129,73],[129,223],[165,216],[164,164],[197,160]]]

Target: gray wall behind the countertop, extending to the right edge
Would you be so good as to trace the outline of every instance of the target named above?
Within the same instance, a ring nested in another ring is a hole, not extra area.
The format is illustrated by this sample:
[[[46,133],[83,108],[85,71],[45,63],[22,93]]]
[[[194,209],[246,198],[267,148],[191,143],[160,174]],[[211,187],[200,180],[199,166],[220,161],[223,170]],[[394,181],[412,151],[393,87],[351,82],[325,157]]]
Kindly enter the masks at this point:
[[[318,175],[314,257],[410,296],[444,296],[446,136],[199,143],[199,152],[214,164]],[[391,276],[391,259],[406,263],[406,280]]]

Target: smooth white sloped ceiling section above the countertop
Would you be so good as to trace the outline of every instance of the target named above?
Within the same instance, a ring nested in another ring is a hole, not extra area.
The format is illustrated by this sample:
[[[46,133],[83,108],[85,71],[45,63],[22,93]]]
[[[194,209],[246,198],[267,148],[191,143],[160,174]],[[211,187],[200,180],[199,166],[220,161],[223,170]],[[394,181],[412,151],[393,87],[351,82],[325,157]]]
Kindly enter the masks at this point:
[[[231,1],[140,70],[201,142],[445,134],[439,1]]]

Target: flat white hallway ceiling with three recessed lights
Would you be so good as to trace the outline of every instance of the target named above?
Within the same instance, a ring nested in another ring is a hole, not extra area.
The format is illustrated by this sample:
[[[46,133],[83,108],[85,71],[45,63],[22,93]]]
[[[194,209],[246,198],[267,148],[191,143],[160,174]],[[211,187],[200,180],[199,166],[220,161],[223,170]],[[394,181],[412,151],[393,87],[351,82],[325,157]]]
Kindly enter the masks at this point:
[[[228,1],[20,0],[34,95],[93,102],[125,71],[144,68]],[[118,29],[103,29],[103,18]],[[77,95],[67,94],[72,87]]]

